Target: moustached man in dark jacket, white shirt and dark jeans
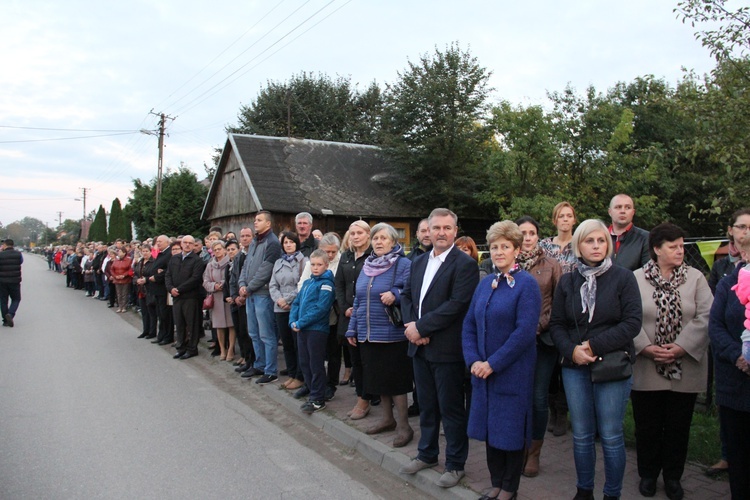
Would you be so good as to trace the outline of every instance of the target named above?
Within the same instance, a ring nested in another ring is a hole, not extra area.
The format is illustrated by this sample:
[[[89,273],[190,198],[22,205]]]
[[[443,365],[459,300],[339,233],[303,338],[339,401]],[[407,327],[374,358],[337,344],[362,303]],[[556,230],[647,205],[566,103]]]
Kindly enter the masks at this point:
[[[458,229],[456,214],[436,208],[428,221],[432,251],[414,260],[410,280],[401,294],[422,435],[419,454],[399,472],[415,474],[437,465],[442,419],[445,472],[436,484],[450,488],[464,476],[469,453],[461,329],[479,282],[479,270],[476,261],[453,244]]]

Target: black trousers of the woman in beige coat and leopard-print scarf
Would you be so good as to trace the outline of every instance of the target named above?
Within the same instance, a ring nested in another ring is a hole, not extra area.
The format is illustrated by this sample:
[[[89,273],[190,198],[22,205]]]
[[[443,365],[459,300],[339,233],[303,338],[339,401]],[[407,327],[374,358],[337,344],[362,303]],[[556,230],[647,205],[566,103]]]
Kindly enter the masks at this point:
[[[638,475],[680,480],[685,470],[695,393],[631,391]]]

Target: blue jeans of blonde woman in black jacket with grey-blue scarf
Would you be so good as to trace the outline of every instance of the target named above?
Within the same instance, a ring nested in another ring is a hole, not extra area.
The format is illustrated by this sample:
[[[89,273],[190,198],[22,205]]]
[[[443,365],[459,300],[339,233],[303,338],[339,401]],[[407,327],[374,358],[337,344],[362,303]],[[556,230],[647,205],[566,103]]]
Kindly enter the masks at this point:
[[[633,377],[619,382],[594,384],[588,367],[562,369],[573,428],[573,458],[577,487],[594,489],[597,431],[604,455],[604,494],[620,496],[625,475],[625,438],[622,422]]]

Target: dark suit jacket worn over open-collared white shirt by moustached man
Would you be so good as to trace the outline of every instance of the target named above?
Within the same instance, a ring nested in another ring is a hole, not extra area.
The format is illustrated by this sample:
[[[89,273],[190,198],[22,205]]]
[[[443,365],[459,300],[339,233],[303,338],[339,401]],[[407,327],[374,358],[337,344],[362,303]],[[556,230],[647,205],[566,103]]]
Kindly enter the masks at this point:
[[[479,283],[479,269],[474,259],[454,246],[432,279],[422,302],[422,317],[417,319],[429,257],[425,253],[414,259],[410,280],[401,293],[404,323],[416,321],[419,335],[430,338],[424,346],[409,343],[409,356],[421,349],[427,361],[463,363],[461,328]]]

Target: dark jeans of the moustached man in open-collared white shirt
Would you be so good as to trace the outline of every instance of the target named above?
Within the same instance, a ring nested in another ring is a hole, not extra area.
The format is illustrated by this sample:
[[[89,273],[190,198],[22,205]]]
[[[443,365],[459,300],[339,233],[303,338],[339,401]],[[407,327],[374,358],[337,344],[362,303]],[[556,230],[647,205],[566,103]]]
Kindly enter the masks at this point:
[[[413,358],[414,383],[419,398],[419,458],[437,462],[440,422],[445,431],[445,470],[464,470],[469,455],[464,407],[464,363],[433,363],[420,353]]]

